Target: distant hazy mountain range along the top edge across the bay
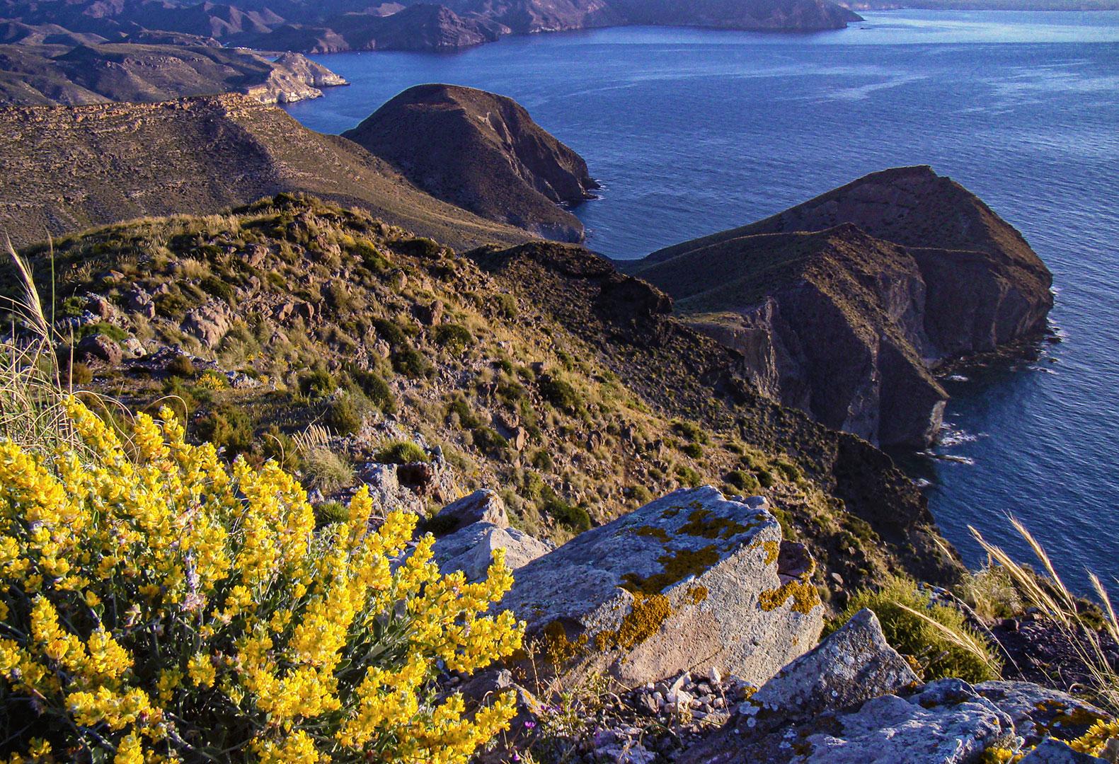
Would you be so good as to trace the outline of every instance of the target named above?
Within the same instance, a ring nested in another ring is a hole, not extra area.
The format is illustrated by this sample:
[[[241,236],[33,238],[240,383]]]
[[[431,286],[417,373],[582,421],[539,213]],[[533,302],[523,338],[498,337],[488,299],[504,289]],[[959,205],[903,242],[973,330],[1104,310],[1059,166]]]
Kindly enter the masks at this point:
[[[831,0],[2,0],[0,18],[119,41],[138,30],[215,38],[267,50],[454,50],[508,34],[666,25],[811,31],[841,29],[859,17]]]

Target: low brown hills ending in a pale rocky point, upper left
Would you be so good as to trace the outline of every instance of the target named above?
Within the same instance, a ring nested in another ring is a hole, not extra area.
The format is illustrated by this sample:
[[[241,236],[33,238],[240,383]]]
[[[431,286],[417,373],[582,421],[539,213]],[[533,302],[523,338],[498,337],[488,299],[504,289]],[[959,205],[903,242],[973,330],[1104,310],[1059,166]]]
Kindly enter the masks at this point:
[[[47,36],[43,39],[56,39]],[[322,95],[346,81],[300,54],[275,60],[210,46],[0,45],[0,105],[154,102],[237,92],[263,103]]]

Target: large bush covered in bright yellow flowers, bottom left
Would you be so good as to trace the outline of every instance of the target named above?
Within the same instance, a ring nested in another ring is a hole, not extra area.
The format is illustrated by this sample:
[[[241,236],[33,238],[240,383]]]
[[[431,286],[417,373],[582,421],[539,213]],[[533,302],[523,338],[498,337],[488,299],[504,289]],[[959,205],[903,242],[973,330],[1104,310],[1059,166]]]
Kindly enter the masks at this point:
[[[314,529],[283,470],[190,445],[170,412],[128,449],[74,398],[85,444],[0,441],[0,758],[464,762],[511,696],[468,714],[441,670],[520,647],[513,583],[441,576],[415,517]]]

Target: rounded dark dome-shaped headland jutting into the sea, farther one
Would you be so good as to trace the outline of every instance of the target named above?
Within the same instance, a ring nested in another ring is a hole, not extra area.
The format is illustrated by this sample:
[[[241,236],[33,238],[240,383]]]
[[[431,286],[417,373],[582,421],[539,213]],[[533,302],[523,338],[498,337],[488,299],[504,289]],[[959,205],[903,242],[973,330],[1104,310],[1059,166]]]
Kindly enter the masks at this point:
[[[558,205],[583,201],[598,183],[579,154],[510,98],[419,85],[344,138],[444,201],[547,238],[583,238],[583,225]]]

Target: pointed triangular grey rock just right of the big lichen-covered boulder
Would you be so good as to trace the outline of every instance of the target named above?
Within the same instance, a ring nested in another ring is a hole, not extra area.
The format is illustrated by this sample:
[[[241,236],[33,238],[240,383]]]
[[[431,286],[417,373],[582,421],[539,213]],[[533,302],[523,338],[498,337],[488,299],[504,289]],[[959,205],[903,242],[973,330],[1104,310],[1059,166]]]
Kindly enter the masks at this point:
[[[781,669],[747,702],[808,716],[853,708],[919,682],[905,659],[886,642],[877,616],[864,607]]]

